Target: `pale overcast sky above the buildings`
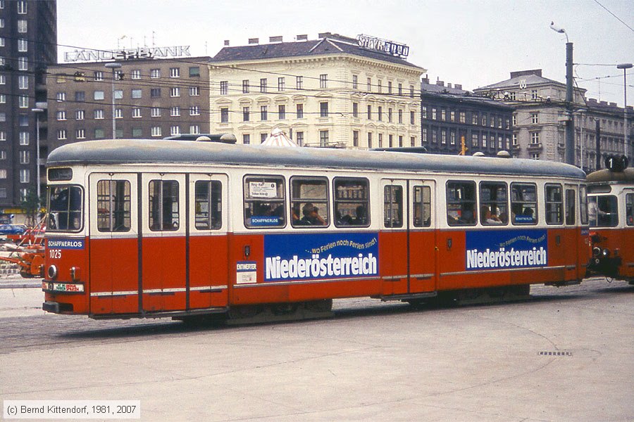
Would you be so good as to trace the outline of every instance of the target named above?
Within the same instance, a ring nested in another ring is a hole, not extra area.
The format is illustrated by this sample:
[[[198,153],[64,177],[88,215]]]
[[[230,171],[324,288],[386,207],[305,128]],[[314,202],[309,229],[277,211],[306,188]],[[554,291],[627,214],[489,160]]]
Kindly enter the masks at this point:
[[[634,63],[632,0],[58,0],[58,60],[74,49],[191,46],[215,56],[259,38],[321,32],[358,34],[409,46],[409,63],[430,82],[473,90],[542,69],[566,83],[566,34],[574,76],[587,98],[623,106],[623,70]],[[550,23],[566,34],[550,29]],[[634,105],[634,68],[627,72]]]

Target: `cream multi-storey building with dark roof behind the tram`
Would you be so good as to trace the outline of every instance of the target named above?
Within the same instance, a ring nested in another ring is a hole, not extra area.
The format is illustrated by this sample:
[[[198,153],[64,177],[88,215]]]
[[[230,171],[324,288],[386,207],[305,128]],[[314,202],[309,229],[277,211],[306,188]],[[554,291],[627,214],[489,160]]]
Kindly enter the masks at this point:
[[[387,52],[386,52],[387,51]],[[261,143],[275,128],[300,146],[420,146],[420,79],[408,49],[326,32],[228,46],[211,59],[210,130]]]

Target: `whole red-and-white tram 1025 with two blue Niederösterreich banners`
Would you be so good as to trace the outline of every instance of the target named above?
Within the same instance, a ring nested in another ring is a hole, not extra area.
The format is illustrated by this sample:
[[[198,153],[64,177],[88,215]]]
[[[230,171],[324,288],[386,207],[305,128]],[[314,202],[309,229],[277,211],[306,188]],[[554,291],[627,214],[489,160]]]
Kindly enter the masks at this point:
[[[128,139],[62,146],[47,167],[49,312],[526,297],[590,260],[585,174],[555,162]]]

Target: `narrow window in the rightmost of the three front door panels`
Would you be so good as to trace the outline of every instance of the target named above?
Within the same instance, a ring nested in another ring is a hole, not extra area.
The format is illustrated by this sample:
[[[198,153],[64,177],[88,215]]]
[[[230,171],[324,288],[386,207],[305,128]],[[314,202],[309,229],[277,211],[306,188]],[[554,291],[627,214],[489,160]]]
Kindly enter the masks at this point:
[[[198,230],[217,230],[223,225],[222,191],[220,181],[196,181],[194,225]]]

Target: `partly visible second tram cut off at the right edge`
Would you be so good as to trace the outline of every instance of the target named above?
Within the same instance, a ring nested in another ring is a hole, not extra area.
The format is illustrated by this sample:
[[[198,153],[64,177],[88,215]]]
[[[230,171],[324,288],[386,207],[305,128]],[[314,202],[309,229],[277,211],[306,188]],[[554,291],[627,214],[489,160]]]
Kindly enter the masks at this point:
[[[634,169],[623,167],[588,174],[590,269],[634,283]]]

